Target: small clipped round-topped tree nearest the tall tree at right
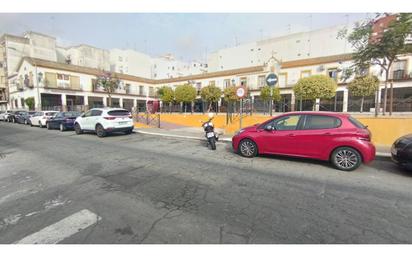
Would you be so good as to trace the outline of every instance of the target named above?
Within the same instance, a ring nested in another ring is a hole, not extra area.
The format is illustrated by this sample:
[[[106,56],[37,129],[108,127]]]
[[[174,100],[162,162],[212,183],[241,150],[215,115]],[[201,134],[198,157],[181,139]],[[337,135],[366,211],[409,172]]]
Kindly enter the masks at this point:
[[[352,93],[352,95],[362,97],[360,112],[363,112],[363,102],[365,100],[365,96],[374,95],[378,88],[379,79],[376,76],[371,75],[356,77],[348,85],[348,90]]]

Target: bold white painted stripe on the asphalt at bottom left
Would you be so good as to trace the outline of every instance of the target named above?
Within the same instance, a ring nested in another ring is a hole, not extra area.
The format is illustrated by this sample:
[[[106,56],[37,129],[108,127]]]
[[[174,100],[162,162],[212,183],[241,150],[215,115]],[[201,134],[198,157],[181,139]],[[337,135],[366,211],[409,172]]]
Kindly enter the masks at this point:
[[[101,220],[100,216],[84,209],[14,243],[56,244],[97,223],[99,220]]]

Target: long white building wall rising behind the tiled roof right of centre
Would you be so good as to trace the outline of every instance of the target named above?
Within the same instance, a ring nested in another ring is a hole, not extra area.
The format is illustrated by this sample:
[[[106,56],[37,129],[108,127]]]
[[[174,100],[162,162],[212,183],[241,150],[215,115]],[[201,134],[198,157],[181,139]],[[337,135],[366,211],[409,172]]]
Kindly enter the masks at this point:
[[[220,49],[208,56],[208,71],[263,65],[272,55],[292,61],[351,53],[347,40],[337,39],[343,28],[335,26]]]

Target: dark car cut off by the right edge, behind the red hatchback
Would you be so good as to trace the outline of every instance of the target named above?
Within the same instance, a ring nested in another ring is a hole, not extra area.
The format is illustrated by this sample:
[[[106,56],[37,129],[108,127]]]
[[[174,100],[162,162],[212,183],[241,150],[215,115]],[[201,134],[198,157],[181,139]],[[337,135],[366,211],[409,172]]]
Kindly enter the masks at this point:
[[[412,170],[412,134],[400,137],[393,143],[391,156],[396,164]]]

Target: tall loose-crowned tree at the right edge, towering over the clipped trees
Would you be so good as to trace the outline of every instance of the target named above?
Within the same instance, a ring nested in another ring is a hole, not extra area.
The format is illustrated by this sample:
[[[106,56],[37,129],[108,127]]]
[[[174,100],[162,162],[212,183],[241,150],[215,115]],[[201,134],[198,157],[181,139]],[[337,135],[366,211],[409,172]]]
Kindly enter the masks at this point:
[[[378,15],[374,20],[366,20],[358,22],[354,30],[347,35],[347,30],[339,33],[338,37],[346,37],[349,43],[354,48],[353,55],[354,65],[352,68],[356,70],[358,75],[365,75],[364,70],[372,65],[378,65],[382,73],[385,73],[385,97],[383,101],[383,115],[386,112],[387,91],[389,73],[392,64],[398,60],[397,56],[403,53],[409,53],[412,50],[410,44],[406,44],[407,37],[412,32],[412,14],[400,13],[396,14],[394,19],[390,20],[387,28],[384,28],[378,35],[373,34],[373,25],[377,19],[388,18],[388,14]],[[379,88],[377,89],[379,90]],[[390,100],[390,115],[392,114],[392,97],[393,84],[391,82],[391,100]],[[376,101],[375,115],[378,115],[378,101]]]

